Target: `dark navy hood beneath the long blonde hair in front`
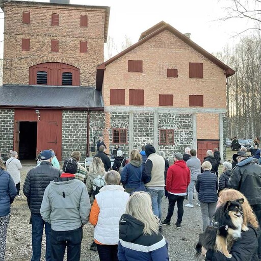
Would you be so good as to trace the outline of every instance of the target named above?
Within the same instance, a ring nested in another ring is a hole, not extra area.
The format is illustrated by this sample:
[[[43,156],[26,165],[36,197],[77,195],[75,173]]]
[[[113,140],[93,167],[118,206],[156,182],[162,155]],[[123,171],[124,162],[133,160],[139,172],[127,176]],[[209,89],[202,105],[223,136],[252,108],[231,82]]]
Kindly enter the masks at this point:
[[[119,238],[126,242],[133,242],[142,236],[144,224],[131,215],[123,214],[120,218]]]

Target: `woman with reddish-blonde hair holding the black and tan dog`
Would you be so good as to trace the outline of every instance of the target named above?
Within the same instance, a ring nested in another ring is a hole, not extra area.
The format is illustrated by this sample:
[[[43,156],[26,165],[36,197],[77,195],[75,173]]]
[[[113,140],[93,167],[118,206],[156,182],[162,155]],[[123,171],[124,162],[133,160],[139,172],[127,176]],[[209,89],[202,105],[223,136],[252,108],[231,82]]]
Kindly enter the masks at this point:
[[[257,261],[257,247],[258,247],[258,221],[255,214],[252,211],[250,204],[246,197],[239,191],[233,189],[224,189],[220,192],[219,200],[217,207],[221,204],[226,203],[229,200],[244,199],[242,204],[243,211],[243,223],[248,227],[248,231],[241,232],[241,238],[237,241],[234,241],[231,250],[229,253],[232,255],[231,258],[225,257],[221,252],[214,252],[205,249],[202,249],[202,254],[206,256],[206,260],[211,261]]]

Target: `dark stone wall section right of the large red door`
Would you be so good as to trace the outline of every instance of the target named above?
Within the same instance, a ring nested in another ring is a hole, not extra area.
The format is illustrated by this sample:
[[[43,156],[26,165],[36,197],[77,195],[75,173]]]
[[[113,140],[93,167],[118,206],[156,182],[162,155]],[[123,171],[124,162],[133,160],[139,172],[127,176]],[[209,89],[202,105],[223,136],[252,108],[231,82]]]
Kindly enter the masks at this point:
[[[73,150],[80,151],[82,158],[85,158],[87,151],[86,111],[63,111],[62,159],[68,158]]]

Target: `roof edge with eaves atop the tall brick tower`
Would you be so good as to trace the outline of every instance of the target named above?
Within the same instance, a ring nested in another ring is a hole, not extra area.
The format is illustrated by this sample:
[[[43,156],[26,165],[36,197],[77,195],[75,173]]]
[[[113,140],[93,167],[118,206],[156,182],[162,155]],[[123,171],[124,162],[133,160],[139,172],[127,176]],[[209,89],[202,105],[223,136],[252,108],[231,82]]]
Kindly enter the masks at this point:
[[[84,2],[84,1],[83,1]],[[62,3],[49,3],[49,2],[34,2],[34,1],[15,1],[15,0],[3,0],[0,3],[0,7],[5,12],[5,5],[14,5],[14,6],[21,6],[21,7],[65,7],[65,8],[82,8],[82,9],[105,9],[106,16],[105,16],[105,26],[104,26],[104,41],[107,42],[108,36],[108,27],[109,27],[109,18],[110,18],[110,7],[108,6],[87,6],[87,5],[75,5],[75,4],[62,4]]]

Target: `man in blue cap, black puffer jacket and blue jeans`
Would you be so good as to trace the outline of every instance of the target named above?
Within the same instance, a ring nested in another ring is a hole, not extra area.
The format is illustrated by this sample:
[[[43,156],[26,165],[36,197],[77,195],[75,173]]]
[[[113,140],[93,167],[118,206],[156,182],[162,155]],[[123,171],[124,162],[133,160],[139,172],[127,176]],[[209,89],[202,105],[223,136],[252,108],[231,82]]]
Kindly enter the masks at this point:
[[[40,208],[43,200],[43,194],[50,181],[60,176],[60,170],[51,165],[53,157],[50,150],[43,150],[39,166],[31,169],[27,173],[23,185],[23,194],[27,197],[27,202],[31,211],[32,218],[32,248],[33,256],[31,261],[40,261],[42,248],[43,226],[45,225],[46,237],[46,261],[51,261],[50,255],[50,232],[51,225],[45,223],[40,215]]]

